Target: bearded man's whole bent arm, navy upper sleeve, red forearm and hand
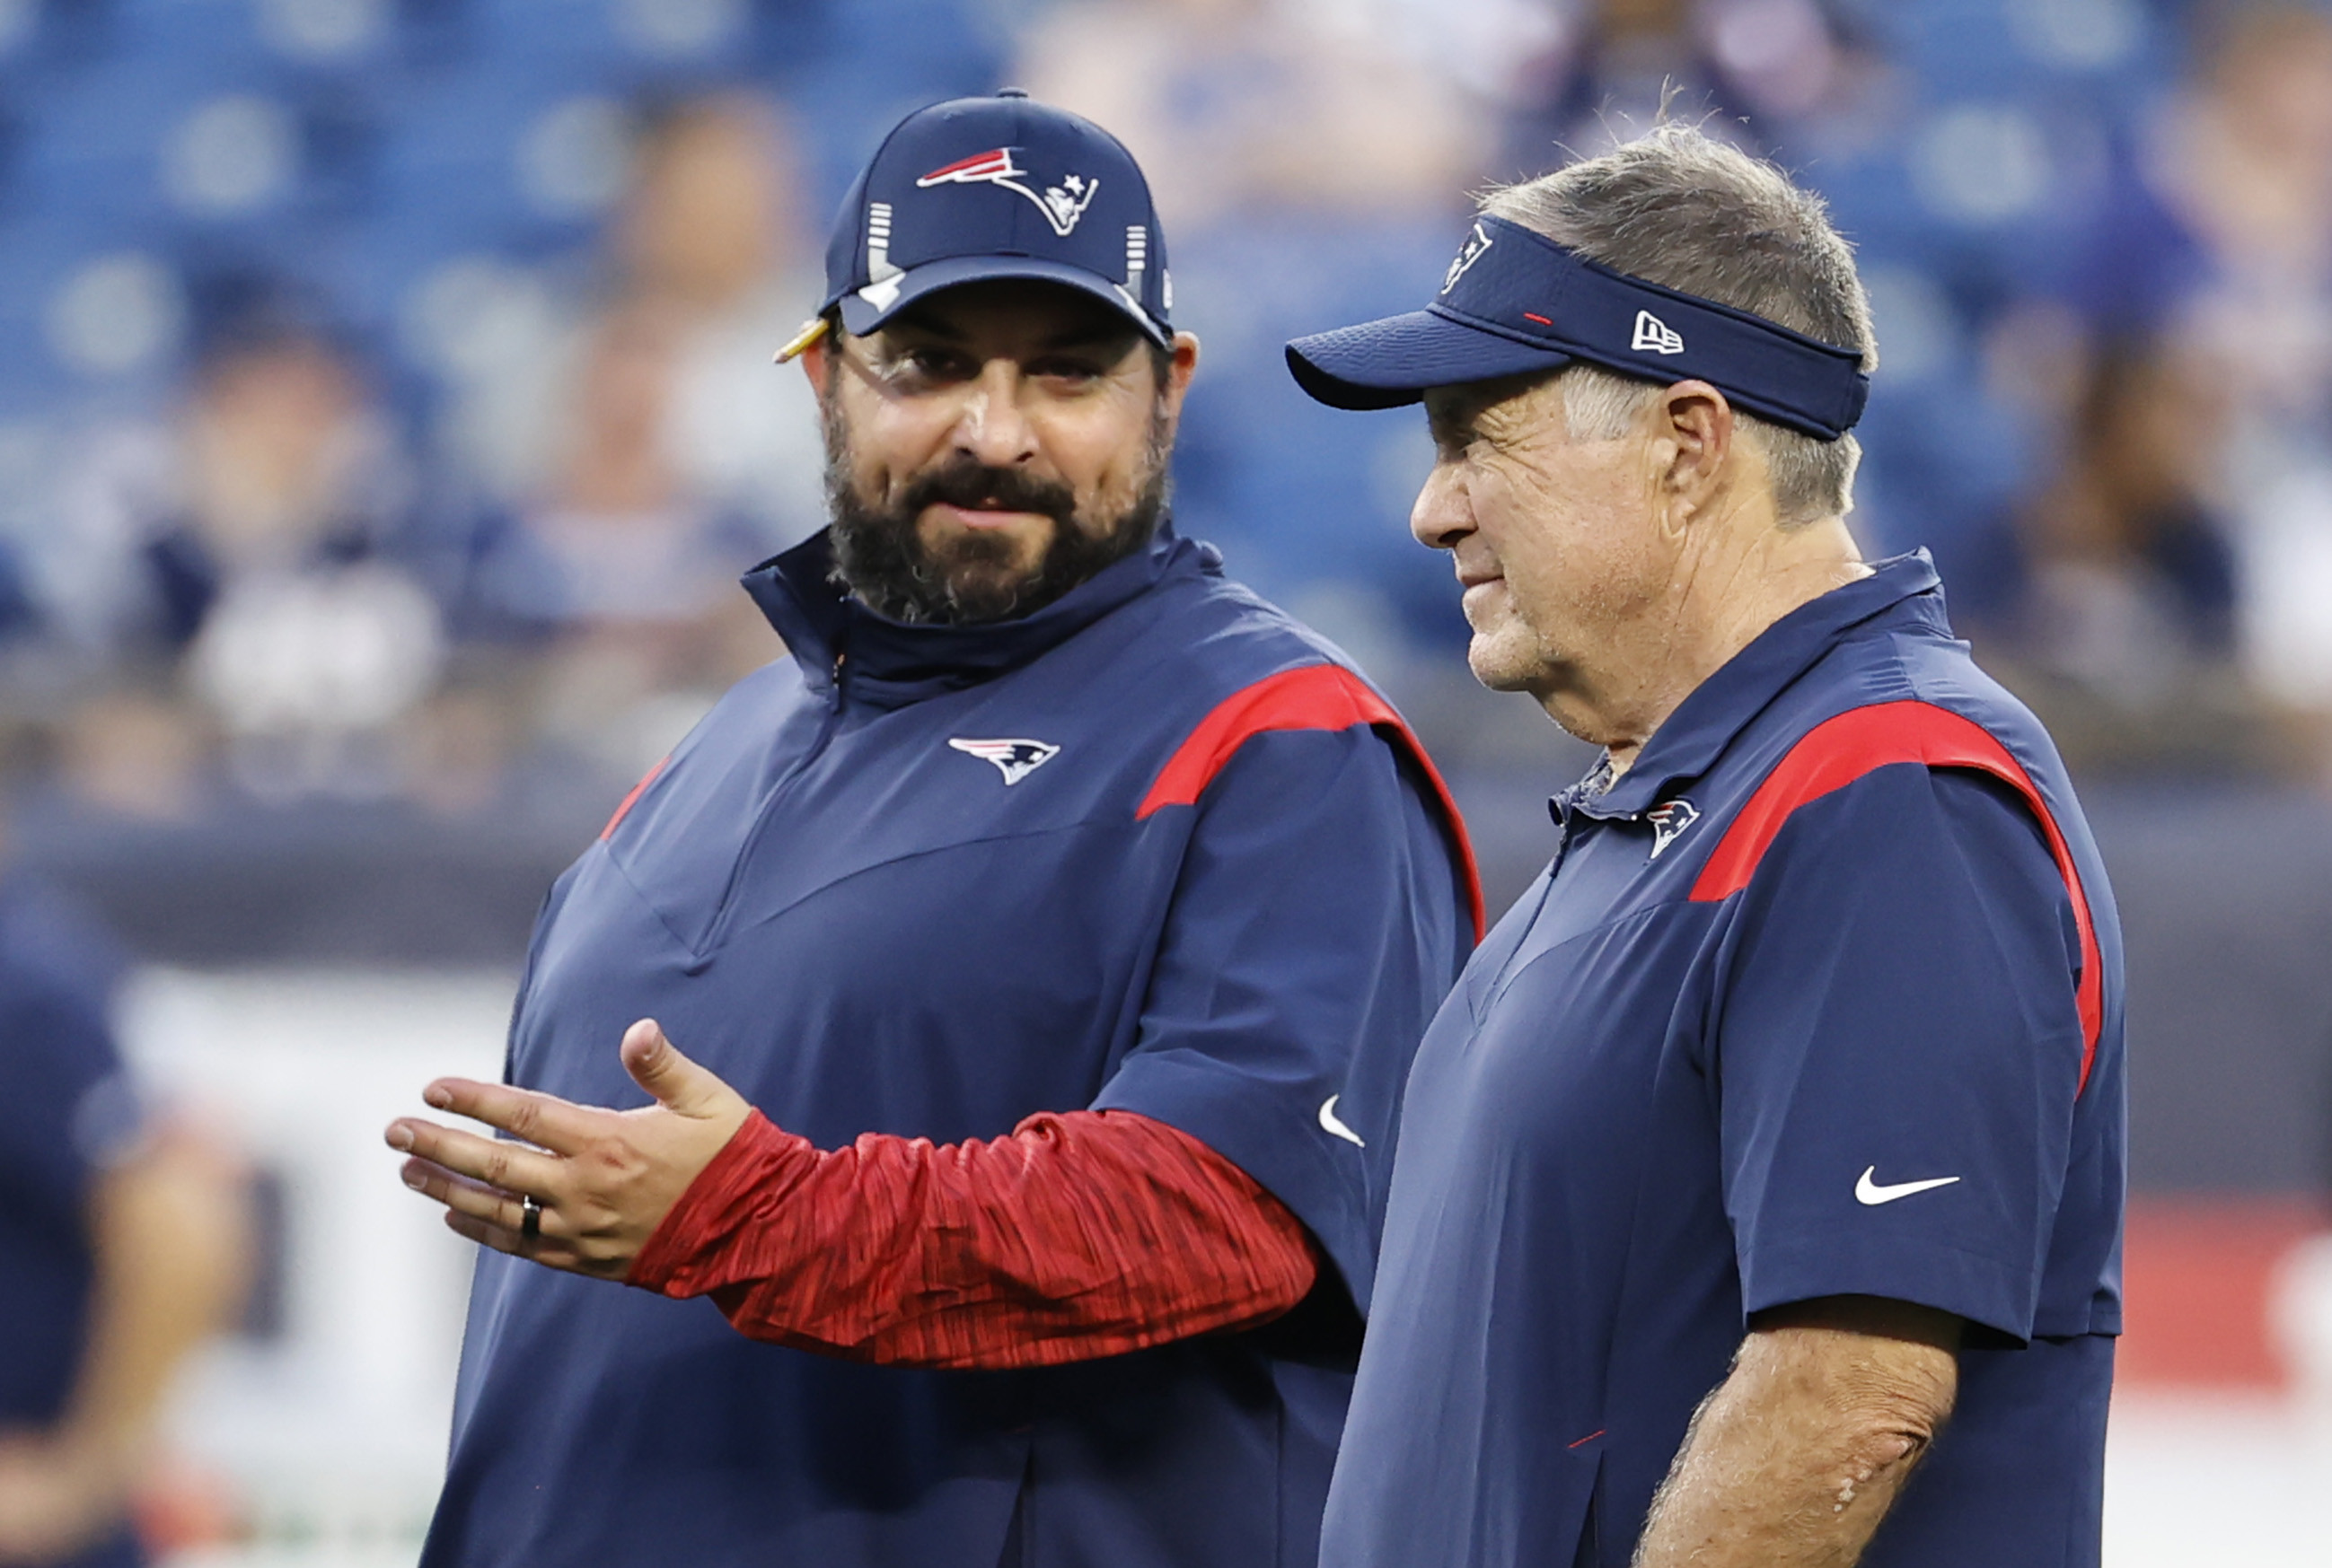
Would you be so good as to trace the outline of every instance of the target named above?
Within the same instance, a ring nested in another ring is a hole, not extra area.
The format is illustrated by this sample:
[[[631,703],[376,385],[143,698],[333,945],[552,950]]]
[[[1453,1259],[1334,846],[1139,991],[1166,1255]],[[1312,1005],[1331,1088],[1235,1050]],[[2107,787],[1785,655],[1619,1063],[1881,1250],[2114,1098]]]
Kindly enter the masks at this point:
[[[1357,1298],[1364,1149],[1390,1149],[1409,1053],[1464,951],[1462,855],[1418,790],[1360,727],[1238,748],[1203,790],[1140,1044],[1089,1109],[819,1151],[749,1121],[641,1020],[623,1062],[655,1107],[441,1081],[429,1104],[534,1149],[427,1121],[389,1144],[471,1239],[711,1293],[749,1335],[893,1365],[1045,1365],[1245,1328],[1327,1265]],[[541,1200],[534,1237],[520,1195]]]

